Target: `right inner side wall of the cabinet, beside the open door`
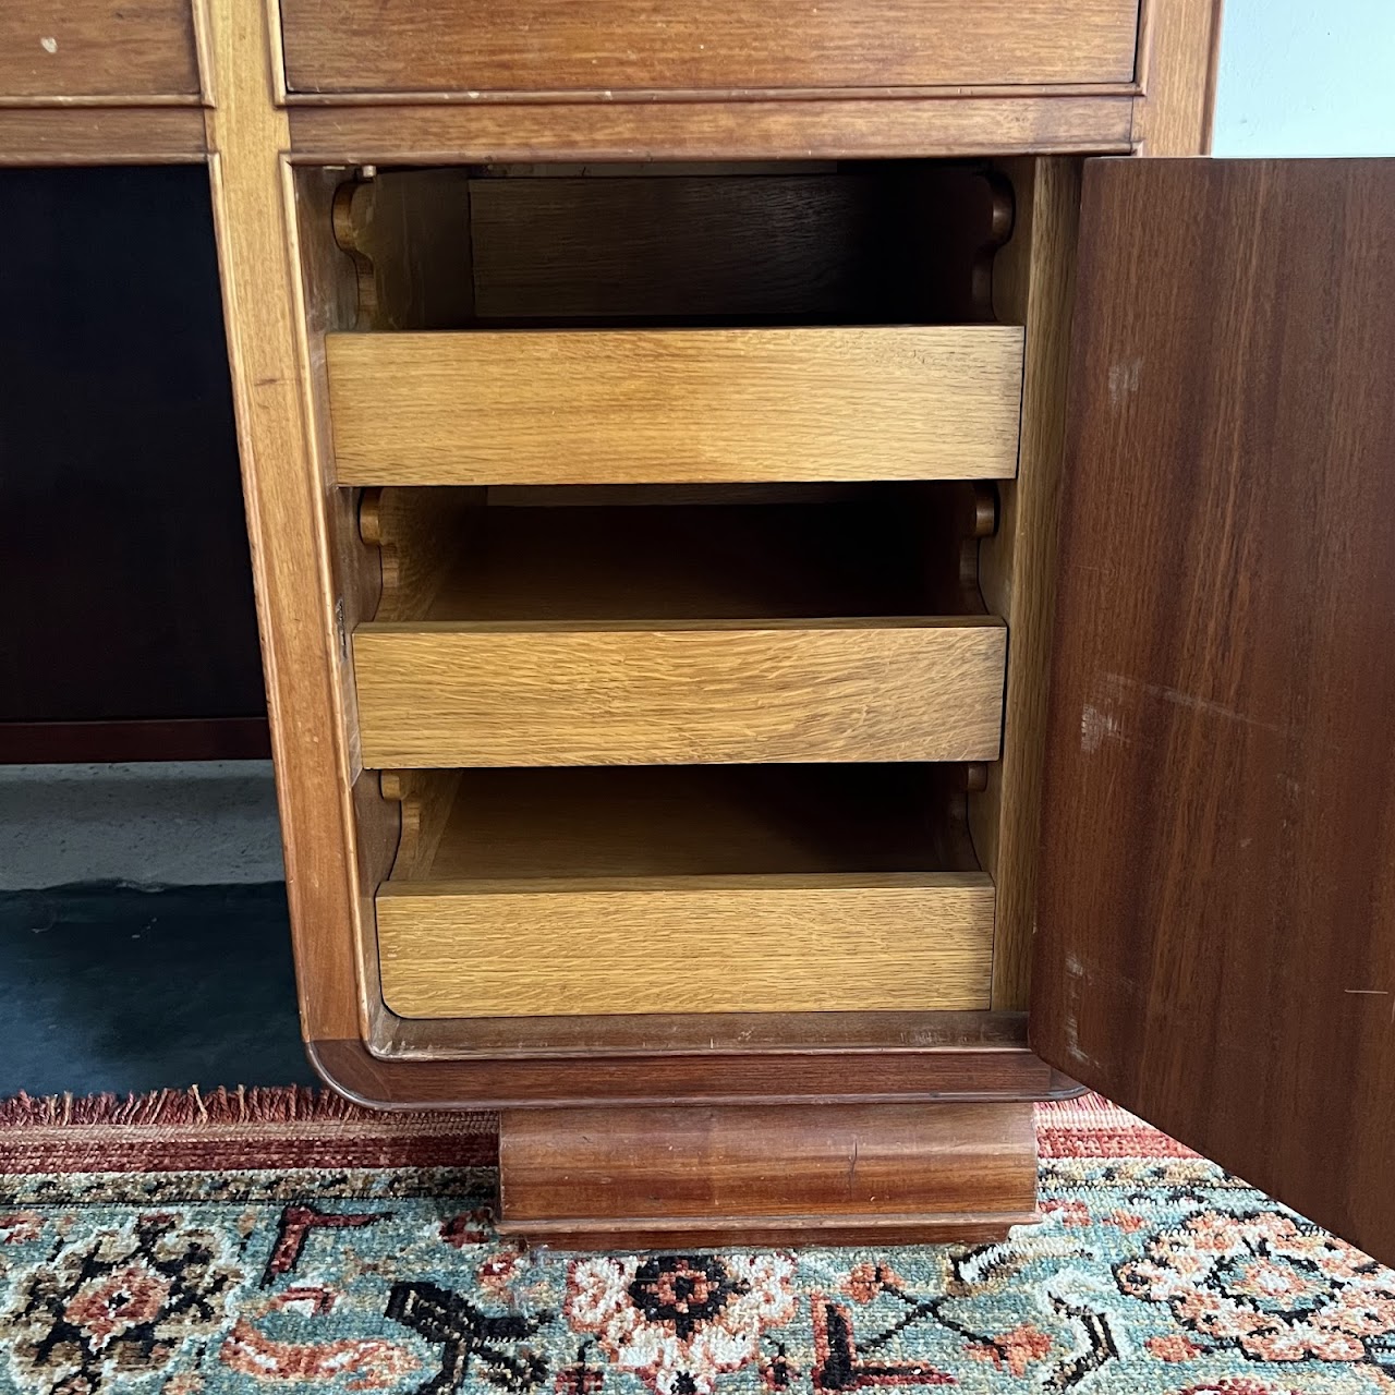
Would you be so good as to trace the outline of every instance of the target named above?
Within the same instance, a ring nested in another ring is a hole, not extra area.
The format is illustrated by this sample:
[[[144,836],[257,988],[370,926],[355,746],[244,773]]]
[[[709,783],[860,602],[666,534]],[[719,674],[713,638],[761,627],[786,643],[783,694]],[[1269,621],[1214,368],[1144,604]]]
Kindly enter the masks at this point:
[[[979,544],[978,576],[989,610],[1007,622],[1011,663],[1003,756],[989,767],[988,788],[970,801],[970,819],[997,884],[993,1006],[1013,1011],[1027,1006],[1031,986],[1080,162],[1018,160],[1007,172],[1017,229],[995,262],[993,293],[1000,318],[1027,325],[1023,435],[1017,478],[997,490],[997,531]]]

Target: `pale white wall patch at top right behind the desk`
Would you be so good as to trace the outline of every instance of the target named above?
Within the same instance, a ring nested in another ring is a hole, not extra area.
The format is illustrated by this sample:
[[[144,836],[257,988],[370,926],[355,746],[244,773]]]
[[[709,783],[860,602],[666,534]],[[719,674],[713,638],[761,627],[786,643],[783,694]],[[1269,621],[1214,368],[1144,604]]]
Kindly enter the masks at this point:
[[[1216,155],[1395,155],[1395,0],[1223,0]]]

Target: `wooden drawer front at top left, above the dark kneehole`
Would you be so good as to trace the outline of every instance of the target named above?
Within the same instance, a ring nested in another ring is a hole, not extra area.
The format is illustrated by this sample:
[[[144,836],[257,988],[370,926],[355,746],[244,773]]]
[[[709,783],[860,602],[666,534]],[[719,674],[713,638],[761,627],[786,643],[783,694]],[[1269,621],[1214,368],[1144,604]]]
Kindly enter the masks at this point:
[[[0,6],[6,98],[198,96],[190,0],[11,0]]]

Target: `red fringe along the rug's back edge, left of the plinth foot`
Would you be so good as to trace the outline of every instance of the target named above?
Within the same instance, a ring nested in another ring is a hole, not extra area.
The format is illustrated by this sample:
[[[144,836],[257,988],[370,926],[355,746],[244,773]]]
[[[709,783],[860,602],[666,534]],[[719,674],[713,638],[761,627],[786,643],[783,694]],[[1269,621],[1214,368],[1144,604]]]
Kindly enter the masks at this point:
[[[148,1095],[28,1095],[0,1099],[0,1129],[66,1124],[289,1124],[382,1123],[382,1110],[350,1103],[331,1089],[310,1085],[237,1085],[201,1091],[158,1089]],[[402,1113],[399,1119],[439,1119],[452,1131],[484,1133],[498,1127],[498,1116],[478,1110]]]

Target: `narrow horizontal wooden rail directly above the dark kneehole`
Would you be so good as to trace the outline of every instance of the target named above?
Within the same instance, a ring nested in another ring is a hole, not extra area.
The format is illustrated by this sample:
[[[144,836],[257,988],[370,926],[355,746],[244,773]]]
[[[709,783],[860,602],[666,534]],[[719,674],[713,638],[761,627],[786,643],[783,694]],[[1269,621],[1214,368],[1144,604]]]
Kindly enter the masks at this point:
[[[193,106],[0,105],[0,165],[198,165],[206,149]]]

